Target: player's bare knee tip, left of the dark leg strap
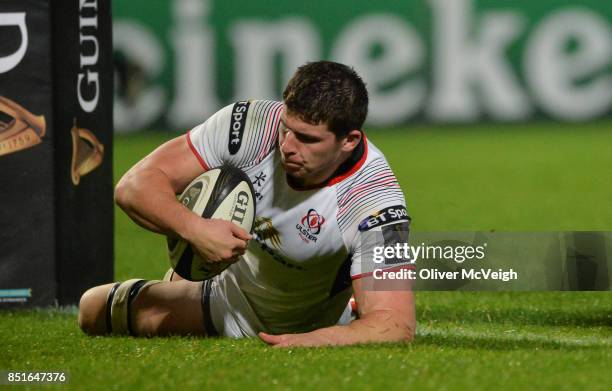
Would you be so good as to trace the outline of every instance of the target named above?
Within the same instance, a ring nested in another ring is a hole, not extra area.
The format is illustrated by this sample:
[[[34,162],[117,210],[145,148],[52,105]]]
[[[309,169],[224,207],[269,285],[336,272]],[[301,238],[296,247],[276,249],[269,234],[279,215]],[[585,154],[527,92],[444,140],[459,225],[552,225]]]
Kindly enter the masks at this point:
[[[79,302],[79,327],[90,335],[106,332],[106,297],[113,284],[101,285],[87,290]]]

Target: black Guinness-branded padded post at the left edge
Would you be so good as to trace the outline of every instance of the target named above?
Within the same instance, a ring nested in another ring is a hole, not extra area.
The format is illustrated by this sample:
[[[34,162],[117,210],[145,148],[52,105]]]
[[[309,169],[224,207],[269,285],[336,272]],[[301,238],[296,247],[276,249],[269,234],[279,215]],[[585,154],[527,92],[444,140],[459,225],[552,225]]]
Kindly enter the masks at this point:
[[[0,307],[113,277],[110,0],[0,2]]]

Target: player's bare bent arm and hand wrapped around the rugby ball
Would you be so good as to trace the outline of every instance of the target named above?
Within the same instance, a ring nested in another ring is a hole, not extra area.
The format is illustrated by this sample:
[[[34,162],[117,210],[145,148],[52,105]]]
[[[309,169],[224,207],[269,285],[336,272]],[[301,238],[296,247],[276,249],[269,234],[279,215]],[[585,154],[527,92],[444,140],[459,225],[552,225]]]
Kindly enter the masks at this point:
[[[180,136],[158,147],[123,175],[115,200],[142,227],[179,236],[213,261],[244,253],[248,233],[221,220],[202,219],[177,202],[180,193],[204,169]]]

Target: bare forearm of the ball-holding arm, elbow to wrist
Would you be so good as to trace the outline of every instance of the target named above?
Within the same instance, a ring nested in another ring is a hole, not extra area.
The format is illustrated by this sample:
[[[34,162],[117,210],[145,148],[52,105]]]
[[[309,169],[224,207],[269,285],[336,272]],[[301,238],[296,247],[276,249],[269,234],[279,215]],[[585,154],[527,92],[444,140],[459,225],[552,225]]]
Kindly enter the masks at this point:
[[[165,235],[182,236],[193,217],[177,202],[165,174],[156,169],[126,173],[115,189],[115,201],[138,225]]]

